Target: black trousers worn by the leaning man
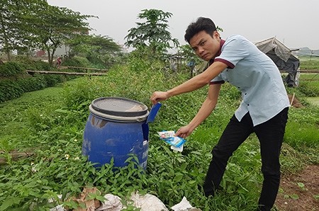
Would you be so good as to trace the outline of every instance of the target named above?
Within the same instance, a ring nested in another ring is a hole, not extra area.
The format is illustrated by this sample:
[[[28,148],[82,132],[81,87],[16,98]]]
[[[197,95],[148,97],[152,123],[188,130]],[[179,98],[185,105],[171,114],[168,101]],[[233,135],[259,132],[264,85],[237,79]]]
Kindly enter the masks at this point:
[[[274,205],[279,189],[279,154],[287,120],[288,108],[284,108],[274,118],[256,126],[253,126],[249,113],[240,122],[233,115],[218,144],[213,147],[213,159],[203,185],[205,195],[214,195],[223,178],[228,159],[240,144],[254,132],[260,142],[262,173],[264,176],[258,205],[260,210],[270,210]]]

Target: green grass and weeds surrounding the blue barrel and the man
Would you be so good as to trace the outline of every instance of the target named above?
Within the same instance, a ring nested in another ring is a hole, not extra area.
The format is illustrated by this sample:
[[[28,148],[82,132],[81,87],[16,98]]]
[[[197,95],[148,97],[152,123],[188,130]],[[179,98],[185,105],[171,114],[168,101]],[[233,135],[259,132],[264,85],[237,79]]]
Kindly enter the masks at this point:
[[[135,68],[136,65],[143,68]],[[101,199],[106,193],[118,195],[128,205],[127,210],[135,210],[128,199],[135,191],[156,195],[167,207],[176,205],[185,196],[201,210],[255,210],[262,174],[259,143],[254,135],[230,158],[216,197],[206,198],[198,189],[211,159],[211,149],[240,103],[237,89],[228,84],[223,86],[216,111],[187,138],[182,153],[172,152],[159,140],[157,131],[177,130],[189,122],[207,90],[186,93],[163,103],[155,122],[150,124],[145,172],[134,168],[134,157],[127,167],[112,171],[111,164],[97,170],[82,156],[82,136],[92,100],[121,96],[150,107],[149,98],[155,89],[167,90],[187,77],[188,73],[183,72],[167,75],[157,64],[148,66],[138,61],[135,66],[113,67],[107,76],[84,76],[1,103],[0,150],[5,163],[0,169],[0,210],[47,210],[60,204],[77,207],[70,198],[76,198],[88,187],[101,191],[91,198]],[[308,75],[301,75],[301,79],[305,78]],[[295,93],[303,106],[289,110],[281,153],[284,178],[298,176],[308,166],[319,164],[319,107],[307,100],[309,94],[319,96],[316,83],[301,80],[300,89],[287,89],[289,94]],[[14,158],[15,152],[25,154]],[[285,187],[279,190],[281,200],[276,204],[279,210],[285,209],[287,201],[303,202],[306,193],[308,205],[319,209],[318,190],[310,189],[306,181],[296,177],[294,189]],[[51,198],[55,200],[49,203]]]

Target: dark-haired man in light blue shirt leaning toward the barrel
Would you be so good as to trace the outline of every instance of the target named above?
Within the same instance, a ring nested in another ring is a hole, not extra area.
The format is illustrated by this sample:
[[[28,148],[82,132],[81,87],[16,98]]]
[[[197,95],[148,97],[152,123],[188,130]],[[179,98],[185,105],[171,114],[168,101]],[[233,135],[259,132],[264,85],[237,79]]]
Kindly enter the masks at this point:
[[[264,181],[259,210],[270,210],[279,189],[279,153],[288,119],[289,99],[281,74],[274,62],[241,35],[222,40],[209,18],[198,18],[186,29],[185,40],[198,57],[210,62],[201,74],[169,91],[155,91],[152,103],[181,93],[194,91],[206,84],[208,96],[188,125],[176,135],[187,137],[214,110],[221,84],[227,81],[242,92],[242,102],[230,119],[208,167],[203,190],[214,195],[220,185],[228,159],[242,142],[254,132],[260,142]]]

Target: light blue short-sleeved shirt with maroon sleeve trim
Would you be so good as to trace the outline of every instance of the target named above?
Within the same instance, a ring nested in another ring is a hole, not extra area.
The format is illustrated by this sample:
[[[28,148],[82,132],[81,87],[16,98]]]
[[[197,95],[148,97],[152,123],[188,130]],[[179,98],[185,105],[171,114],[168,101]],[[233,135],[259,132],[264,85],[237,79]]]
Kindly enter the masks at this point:
[[[242,92],[242,102],[235,112],[237,120],[249,112],[254,126],[259,125],[289,107],[284,82],[272,59],[241,35],[221,41],[220,55],[214,62],[223,62],[228,68],[210,84],[226,81]]]

